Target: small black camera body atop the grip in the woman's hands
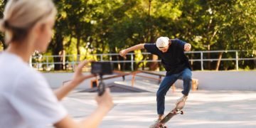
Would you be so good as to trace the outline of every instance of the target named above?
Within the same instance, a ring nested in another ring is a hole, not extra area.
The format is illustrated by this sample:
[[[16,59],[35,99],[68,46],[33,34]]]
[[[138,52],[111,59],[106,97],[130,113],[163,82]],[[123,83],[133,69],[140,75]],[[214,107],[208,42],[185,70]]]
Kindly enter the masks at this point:
[[[111,75],[113,64],[111,62],[92,62],[91,73],[94,75]]]

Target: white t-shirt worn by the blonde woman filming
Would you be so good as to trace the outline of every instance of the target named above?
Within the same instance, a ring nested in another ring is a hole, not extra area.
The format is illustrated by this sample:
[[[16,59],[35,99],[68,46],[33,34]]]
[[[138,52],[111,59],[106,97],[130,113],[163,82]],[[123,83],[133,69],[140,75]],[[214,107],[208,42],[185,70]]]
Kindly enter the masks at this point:
[[[45,128],[66,115],[41,73],[17,55],[0,53],[0,127]]]

